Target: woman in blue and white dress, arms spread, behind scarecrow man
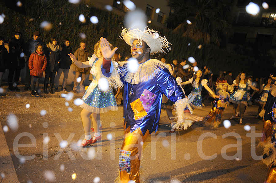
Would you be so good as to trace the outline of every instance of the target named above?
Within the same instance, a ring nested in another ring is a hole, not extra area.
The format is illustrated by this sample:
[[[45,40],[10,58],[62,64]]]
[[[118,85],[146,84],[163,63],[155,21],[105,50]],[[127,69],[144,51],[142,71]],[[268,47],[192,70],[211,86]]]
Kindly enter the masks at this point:
[[[194,75],[193,78],[190,78],[188,81],[182,82],[181,85],[192,84],[192,92],[188,95],[189,103],[193,108],[202,108],[202,97],[201,90],[204,87],[209,93],[211,93],[212,97],[219,98],[220,96],[216,95],[207,85],[208,80],[202,79],[202,70],[199,69]]]

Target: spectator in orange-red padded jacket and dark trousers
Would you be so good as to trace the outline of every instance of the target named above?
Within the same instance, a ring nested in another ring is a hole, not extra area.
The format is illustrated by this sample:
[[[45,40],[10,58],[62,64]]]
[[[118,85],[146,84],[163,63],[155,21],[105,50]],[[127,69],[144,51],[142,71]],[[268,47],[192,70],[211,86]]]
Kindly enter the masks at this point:
[[[29,58],[29,69],[31,79],[31,96],[39,96],[38,86],[39,79],[42,78],[43,72],[46,70],[47,58],[46,55],[43,54],[43,45],[37,44],[36,51],[33,52]],[[35,85],[36,84],[36,85]]]

